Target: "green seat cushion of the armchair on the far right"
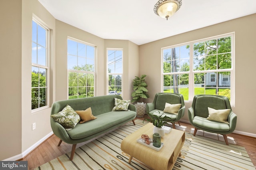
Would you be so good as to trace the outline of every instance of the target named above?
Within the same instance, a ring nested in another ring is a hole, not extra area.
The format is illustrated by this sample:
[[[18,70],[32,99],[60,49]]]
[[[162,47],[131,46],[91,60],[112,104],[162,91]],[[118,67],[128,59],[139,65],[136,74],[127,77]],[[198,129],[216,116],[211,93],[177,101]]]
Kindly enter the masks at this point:
[[[228,132],[230,127],[226,123],[220,123],[216,121],[207,120],[204,117],[195,116],[193,119],[194,125],[201,127],[202,129],[218,131],[218,132]]]

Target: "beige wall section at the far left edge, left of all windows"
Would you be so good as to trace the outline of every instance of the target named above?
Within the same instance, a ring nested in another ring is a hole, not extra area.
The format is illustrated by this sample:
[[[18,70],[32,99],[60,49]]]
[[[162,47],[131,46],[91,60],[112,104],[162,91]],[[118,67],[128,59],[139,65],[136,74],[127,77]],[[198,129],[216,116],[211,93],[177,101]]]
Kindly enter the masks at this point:
[[[0,160],[21,153],[21,4],[0,1]]]

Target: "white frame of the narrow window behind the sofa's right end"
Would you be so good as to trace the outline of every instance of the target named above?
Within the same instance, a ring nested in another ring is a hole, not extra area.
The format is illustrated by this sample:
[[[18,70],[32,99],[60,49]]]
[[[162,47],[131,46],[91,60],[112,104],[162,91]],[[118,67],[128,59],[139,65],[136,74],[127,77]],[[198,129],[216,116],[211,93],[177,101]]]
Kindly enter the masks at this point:
[[[108,73],[108,51],[109,50],[112,50],[112,51],[114,51],[114,50],[116,50],[116,51],[122,51],[122,73]],[[109,89],[109,84],[108,84],[108,77],[109,77],[109,75],[121,75],[122,77],[122,81],[121,81],[121,92],[122,92],[122,90],[123,90],[123,82],[124,82],[124,77],[123,77],[123,73],[124,73],[124,49],[123,48],[107,48],[106,49],[106,73],[107,73],[107,76],[106,76],[106,85],[107,85],[107,87],[106,87],[106,94],[108,95],[108,89]],[[116,91],[116,90],[115,90]],[[122,95],[123,95],[123,92],[122,92]],[[121,96],[122,96],[121,95]]]

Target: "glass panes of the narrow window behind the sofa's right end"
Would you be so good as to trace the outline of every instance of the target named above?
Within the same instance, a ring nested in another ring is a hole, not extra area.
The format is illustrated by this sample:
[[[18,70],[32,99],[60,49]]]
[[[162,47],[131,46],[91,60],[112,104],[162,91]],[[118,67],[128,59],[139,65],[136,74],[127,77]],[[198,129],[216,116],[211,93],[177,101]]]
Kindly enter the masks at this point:
[[[107,49],[108,94],[122,94],[123,50]]]

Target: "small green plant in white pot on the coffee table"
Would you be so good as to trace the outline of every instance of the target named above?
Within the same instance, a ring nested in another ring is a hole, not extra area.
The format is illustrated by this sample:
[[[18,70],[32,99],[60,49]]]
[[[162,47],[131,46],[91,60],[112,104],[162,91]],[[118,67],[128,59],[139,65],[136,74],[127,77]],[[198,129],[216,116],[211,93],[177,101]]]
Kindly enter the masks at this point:
[[[164,125],[166,125],[167,121],[170,121],[171,119],[169,117],[167,117],[166,115],[164,115],[164,117],[162,117],[163,113],[161,114],[160,111],[158,111],[158,114],[159,115],[153,115],[153,114],[148,113],[148,116],[150,118],[145,118],[144,121],[148,121],[154,125],[153,134],[159,133],[160,136],[164,136]],[[144,123],[144,121],[143,121],[143,123]]]

